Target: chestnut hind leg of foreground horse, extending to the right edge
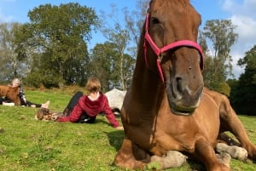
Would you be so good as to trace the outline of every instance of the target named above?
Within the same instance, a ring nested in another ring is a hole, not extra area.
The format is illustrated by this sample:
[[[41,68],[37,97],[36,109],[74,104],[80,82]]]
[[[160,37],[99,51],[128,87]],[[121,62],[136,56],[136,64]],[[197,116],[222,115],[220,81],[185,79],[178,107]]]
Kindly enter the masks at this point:
[[[236,139],[241,143],[241,147],[245,148],[248,152],[248,157],[256,159],[256,146],[248,139],[246,129],[242,125],[240,119],[237,117],[236,112],[232,109],[230,101],[224,97],[220,103],[220,130],[230,131],[236,136]]]

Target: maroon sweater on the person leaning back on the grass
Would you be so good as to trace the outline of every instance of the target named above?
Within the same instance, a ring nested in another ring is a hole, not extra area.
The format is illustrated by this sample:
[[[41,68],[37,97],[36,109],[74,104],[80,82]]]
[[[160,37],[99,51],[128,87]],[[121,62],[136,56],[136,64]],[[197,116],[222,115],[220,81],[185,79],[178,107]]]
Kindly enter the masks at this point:
[[[87,95],[83,95],[77,105],[74,106],[73,111],[69,117],[59,117],[58,122],[77,122],[82,112],[85,112],[89,117],[96,117],[99,113],[104,112],[108,118],[108,122],[113,125],[114,128],[119,126],[118,121],[113,115],[106,95],[100,93],[97,100],[90,100]]]

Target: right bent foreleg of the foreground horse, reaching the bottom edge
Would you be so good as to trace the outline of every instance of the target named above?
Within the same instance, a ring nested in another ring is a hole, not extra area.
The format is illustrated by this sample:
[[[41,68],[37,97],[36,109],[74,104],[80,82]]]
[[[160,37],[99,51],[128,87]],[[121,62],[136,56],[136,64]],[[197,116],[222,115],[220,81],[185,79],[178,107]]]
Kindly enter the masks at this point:
[[[192,155],[205,164],[207,171],[230,171],[228,166],[218,161],[212,145],[203,138],[195,142],[195,151]]]

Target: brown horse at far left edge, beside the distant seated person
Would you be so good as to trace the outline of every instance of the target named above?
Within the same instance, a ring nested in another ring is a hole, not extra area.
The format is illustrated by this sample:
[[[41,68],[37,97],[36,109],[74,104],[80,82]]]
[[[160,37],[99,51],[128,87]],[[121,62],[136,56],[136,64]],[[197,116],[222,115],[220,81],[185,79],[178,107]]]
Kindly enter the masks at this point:
[[[9,100],[20,105],[20,93],[18,87],[0,85],[0,97],[7,97]]]

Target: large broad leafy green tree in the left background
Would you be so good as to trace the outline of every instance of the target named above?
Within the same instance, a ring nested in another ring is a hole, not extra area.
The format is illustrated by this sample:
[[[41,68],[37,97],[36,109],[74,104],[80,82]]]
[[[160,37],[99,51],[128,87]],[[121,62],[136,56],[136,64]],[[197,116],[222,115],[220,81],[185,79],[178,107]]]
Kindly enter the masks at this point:
[[[46,87],[84,84],[89,60],[86,41],[99,26],[95,11],[79,3],[45,4],[29,11],[28,16],[31,22],[17,33],[16,42],[20,57],[27,57],[27,47],[38,54],[33,55],[31,79],[40,77]]]

